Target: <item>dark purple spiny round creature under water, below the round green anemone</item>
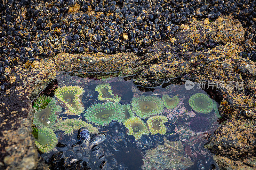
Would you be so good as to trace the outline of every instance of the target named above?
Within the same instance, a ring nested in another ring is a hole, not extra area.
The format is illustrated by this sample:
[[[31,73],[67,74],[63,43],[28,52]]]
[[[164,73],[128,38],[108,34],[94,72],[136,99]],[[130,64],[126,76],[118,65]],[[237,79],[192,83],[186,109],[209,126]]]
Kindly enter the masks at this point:
[[[193,132],[204,132],[208,129],[210,122],[205,117],[194,117],[188,123],[188,128]]]

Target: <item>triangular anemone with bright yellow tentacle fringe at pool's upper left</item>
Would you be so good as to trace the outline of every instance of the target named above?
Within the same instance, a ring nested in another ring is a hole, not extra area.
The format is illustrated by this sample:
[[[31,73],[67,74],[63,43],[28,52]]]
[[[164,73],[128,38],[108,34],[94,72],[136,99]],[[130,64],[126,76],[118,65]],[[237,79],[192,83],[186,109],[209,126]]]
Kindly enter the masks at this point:
[[[80,115],[84,112],[83,103],[80,100],[84,89],[80,86],[62,86],[55,90],[56,97],[62,101],[70,112]]]

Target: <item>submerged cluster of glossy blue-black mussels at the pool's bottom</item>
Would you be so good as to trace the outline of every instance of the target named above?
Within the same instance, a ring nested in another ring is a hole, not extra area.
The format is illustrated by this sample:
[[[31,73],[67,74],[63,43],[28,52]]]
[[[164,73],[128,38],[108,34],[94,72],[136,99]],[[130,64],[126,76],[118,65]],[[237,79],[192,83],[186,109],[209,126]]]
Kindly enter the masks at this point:
[[[167,127],[170,130],[175,128],[173,124]],[[136,141],[117,121],[99,131],[91,137],[87,128],[80,128],[77,137],[75,134],[71,140],[64,138],[57,144],[58,151],[47,158],[46,163],[51,169],[139,169],[143,165],[141,151],[164,144],[160,134],[143,135]],[[168,140],[178,140],[179,136],[171,137],[172,133],[167,133]]]

